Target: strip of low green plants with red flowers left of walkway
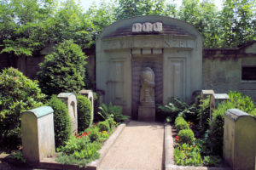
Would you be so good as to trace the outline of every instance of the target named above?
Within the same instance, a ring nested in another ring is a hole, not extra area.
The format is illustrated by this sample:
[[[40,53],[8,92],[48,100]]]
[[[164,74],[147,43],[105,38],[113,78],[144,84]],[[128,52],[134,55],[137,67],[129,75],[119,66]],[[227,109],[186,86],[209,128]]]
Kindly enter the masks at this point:
[[[113,133],[112,124],[113,122],[109,120],[98,122],[86,128],[83,133],[71,136],[65,145],[58,149],[60,153],[56,161],[61,164],[77,164],[79,167],[86,167],[90,161],[100,157],[98,150],[101,149],[103,142]]]

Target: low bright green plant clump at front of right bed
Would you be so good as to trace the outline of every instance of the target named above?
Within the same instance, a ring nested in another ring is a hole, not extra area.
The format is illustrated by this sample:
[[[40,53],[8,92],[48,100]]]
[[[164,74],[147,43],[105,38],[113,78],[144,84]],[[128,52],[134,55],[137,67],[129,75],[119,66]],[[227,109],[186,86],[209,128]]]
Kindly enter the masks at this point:
[[[174,157],[177,165],[201,166],[202,163],[200,150],[196,145],[178,144]]]

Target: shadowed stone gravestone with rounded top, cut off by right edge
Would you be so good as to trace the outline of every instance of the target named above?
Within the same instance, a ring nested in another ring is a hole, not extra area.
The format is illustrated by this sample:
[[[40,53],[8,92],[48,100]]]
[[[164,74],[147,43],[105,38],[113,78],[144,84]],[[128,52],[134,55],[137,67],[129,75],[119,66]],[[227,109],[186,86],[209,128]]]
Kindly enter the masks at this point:
[[[224,114],[224,160],[236,170],[255,170],[256,117],[230,109]]]

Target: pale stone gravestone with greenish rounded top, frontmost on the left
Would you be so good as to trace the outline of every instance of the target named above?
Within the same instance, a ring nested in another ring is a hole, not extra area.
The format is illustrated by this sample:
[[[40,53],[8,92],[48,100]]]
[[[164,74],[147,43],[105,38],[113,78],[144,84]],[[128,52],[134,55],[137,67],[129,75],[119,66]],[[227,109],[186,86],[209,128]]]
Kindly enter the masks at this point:
[[[28,163],[38,164],[55,153],[53,113],[49,106],[21,113],[22,153]]]

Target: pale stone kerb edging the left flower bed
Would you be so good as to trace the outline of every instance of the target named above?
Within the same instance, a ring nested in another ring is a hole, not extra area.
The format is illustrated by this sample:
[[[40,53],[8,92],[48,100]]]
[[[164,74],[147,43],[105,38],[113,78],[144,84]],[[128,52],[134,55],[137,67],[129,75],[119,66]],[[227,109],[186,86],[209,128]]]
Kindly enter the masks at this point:
[[[95,170],[99,164],[101,163],[102,159],[108,153],[109,148],[114,144],[115,140],[119,137],[119,134],[125,128],[127,122],[121,123],[118,127],[116,127],[113,133],[110,135],[107,141],[104,142],[102,148],[98,151],[101,155],[99,159],[95,161],[91,161],[87,167],[79,167],[79,165],[67,165],[61,164],[55,161],[56,155],[49,158],[44,158],[43,161],[40,161],[38,167],[39,168],[48,168],[48,169],[84,169],[84,170]]]

